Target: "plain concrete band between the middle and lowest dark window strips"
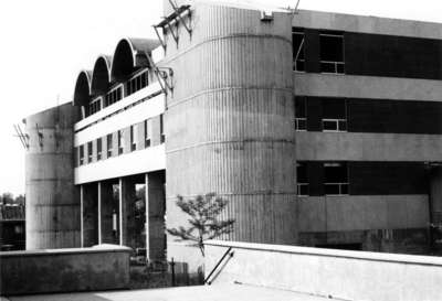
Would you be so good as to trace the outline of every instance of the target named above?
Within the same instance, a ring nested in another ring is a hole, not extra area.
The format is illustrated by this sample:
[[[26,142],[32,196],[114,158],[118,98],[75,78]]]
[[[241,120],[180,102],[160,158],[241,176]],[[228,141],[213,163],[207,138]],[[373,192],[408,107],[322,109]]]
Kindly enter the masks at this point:
[[[344,161],[440,161],[439,135],[296,132],[296,159]]]

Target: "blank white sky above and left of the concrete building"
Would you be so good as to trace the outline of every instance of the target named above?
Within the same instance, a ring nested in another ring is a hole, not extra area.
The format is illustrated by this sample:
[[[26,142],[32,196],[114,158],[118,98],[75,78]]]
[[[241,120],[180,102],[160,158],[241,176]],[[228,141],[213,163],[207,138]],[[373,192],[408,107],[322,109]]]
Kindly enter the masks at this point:
[[[296,4],[296,0],[255,2]],[[442,23],[440,2],[301,0],[299,8]],[[92,68],[98,54],[112,54],[120,37],[154,37],[151,24],[160,20],[161,3],[162,0],[0,1],[0,193],[24,193],[24,150],[13,137],[12,125],[55,106],[57,98],[60,104],[70,101],[78,71]]]

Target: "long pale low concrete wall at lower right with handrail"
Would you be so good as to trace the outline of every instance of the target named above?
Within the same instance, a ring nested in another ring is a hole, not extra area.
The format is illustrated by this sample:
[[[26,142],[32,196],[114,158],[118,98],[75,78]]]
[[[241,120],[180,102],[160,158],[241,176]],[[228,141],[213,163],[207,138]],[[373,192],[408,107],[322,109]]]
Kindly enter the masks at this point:
[[[271,287],[344,300],[441,300],[442,258],[249,243],[206,243],[211,282]]]

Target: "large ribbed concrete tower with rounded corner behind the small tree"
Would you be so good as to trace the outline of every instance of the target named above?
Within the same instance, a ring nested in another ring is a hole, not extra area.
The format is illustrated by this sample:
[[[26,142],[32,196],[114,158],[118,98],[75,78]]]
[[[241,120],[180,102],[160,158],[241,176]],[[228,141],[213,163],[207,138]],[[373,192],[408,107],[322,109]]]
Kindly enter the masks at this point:
[[[214,192],[235,219],[223,239],[295,244],[292,15],[193,2],[191,35],[166,32],[167,227],[187,222],[176,196]],[[168,239],[168,257],[198,252]]]

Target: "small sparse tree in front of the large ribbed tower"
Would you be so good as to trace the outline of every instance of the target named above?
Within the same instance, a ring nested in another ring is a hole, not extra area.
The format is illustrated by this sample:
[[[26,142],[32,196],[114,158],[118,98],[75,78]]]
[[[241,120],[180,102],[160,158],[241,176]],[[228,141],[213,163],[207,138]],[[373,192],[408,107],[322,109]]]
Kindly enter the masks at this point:
[[[228,201],[217,196],[214,193],[206,195],[197,195],[193,200],[185,200],[182,196],[177,196],[177,206],[188,214],[190,218],[189,227],[180,226],[170,228],[167,232],[179,237],[178,240],[194,241],[204,256],[204,244],[207,239],[213,239],[222,234],[230,234],[233,230],[233,218],[219,221],[217,217],[228,205]]]

